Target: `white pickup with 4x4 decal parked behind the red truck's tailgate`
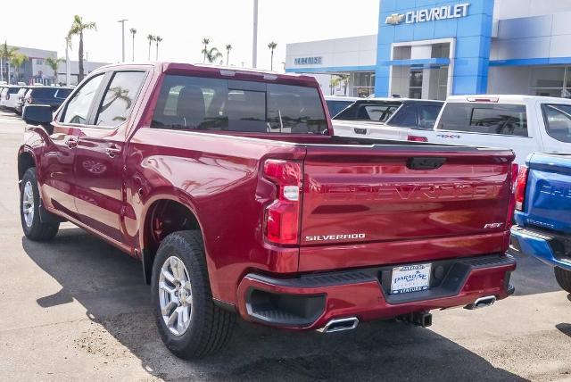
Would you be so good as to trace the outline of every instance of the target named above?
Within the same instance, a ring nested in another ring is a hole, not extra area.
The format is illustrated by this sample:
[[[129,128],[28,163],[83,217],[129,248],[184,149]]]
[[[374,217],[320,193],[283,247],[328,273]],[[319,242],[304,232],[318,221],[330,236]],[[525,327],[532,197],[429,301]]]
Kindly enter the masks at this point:
[[[503,147],[517,164],[532,153],[571,153],[571,100],[535,95],[454,95],[434,132],[434,143]]]

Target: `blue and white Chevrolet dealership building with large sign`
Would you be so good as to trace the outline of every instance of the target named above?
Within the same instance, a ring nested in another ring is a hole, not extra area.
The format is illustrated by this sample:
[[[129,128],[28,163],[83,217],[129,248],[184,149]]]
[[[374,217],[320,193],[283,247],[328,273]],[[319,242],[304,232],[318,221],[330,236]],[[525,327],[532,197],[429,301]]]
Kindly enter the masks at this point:
[[[571,97],[571,0],[380,0],[378,33],[288,44],[326,95]]]

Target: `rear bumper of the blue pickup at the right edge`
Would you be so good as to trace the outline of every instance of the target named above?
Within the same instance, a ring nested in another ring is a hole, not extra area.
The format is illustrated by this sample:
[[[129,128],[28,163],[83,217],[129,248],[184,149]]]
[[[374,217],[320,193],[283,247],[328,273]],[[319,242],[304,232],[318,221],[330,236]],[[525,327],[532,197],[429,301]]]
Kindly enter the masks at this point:
[[[571,258],[557,250],[559,241],[559,237],[549,233],[514,226],[509,246],[513,251],[534,256],[551,267],[571,270]]]

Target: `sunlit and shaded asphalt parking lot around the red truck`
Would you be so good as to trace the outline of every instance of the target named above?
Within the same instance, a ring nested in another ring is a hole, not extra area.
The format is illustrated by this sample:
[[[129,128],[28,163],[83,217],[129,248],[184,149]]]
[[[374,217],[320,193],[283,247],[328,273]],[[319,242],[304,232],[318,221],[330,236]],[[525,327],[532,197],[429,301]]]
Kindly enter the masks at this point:
[[[23,237],[16,151],[24,124],[0,112],[0,380],[571,380],[571,295],[517,257],[516,295],[478,311],[434,311],[330,334],[240,322],[228,347],[181,361],[162,345],[138,262],[64,224]]]

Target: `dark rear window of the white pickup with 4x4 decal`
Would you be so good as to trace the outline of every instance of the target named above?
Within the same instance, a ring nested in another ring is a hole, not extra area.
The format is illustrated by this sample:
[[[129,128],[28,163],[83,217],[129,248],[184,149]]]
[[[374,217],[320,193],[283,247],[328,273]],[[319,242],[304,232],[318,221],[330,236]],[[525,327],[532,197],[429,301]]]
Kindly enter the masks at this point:
[[[527,137],[525,105],[446,104],[437,129]]]

